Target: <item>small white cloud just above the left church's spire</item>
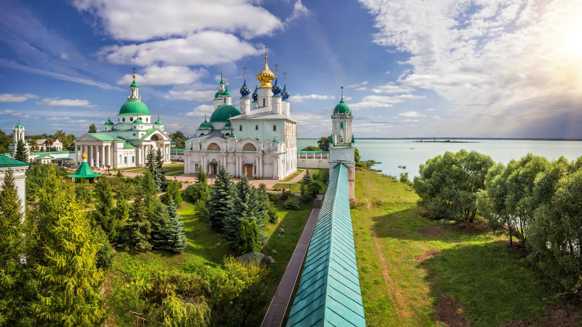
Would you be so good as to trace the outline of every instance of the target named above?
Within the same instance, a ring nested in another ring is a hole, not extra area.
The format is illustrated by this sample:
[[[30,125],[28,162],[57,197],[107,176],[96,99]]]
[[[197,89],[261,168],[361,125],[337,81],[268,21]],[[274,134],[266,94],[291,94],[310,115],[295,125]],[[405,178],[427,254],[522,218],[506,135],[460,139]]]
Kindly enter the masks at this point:
[[[200,77],[207,74],[207,70],[190,69],[187,66],[164,66],[145,67],[142,74],[137,76],[137,84],[143,85],[180,85],[191,84],[198,81]],[[118,85],[129,85],[132,83],[132,74],[127,74],[117,81]]]

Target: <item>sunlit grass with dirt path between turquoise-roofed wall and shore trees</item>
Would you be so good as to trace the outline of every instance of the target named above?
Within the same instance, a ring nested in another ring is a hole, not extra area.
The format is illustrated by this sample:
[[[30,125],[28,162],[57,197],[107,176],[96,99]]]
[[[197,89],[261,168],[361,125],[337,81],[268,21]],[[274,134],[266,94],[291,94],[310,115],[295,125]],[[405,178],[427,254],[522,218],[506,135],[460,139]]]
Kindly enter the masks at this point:
[[[555,301],[505,236],[415,217],[417,198],[391,177],[356,172],[352,221],[368,327],[445,326],[434,321],[445,293],[459,301],[471,326],[538,317]],[[420,234],[421,228],[443,233]],[[415,260],[428,250],[441,254]]]

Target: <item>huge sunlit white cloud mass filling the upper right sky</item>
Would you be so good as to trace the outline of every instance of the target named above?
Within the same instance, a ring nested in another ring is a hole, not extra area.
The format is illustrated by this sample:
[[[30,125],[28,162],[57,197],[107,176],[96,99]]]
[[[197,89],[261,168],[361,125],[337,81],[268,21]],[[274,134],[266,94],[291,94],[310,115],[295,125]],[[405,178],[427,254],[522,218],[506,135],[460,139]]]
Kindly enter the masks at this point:
[[[579,0],[360,2],[375,17],[374,42],[410,54],[396,82],[455,105],[443,131],[582,136]],[[568,130],[565,115],[577,119]]]

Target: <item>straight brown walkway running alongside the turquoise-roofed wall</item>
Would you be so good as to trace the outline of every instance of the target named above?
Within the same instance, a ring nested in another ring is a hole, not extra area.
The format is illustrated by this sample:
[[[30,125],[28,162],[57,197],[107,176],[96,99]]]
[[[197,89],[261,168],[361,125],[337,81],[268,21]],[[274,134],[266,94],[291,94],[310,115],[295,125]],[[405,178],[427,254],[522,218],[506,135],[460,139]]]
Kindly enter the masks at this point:
[[[321,198],[321,196],[318,196],[318,198]],[[291,260],[289,260],[285,273],[283,273],[281,283],[279,283],[279,287],[277,287],[277,292],[271,301],[271,305],[269,305],[269,309],[267,310],[267,314],[265,314],[261,327],[281,327],[291,296],[293,295],[293,289],[297,283],[297,278],[299,278],[301,266],[303,266],[303,260],[307,254],[307,248],[309,247],[309,240],[311,239],[311,234],[315,228],[315,222],[317,222],[317,217],[320,215],[320,209],[321,208],[313,208],[313,211],[311,211],[311,215],[309,216],[309,219],[307,219],[303,233],[301,233],[301,237],[295,247],[295,251],[293,251]]]

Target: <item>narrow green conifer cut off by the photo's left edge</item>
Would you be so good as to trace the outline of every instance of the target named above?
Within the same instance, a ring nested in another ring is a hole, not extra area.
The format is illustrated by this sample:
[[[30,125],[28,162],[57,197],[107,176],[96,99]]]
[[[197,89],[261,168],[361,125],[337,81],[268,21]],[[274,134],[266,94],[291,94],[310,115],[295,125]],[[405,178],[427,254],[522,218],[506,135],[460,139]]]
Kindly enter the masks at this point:
[[[23,287],[21,210],[13,172],[8,169],[0,191],[0,326],[16,326],[20,318],[15,307]]]

